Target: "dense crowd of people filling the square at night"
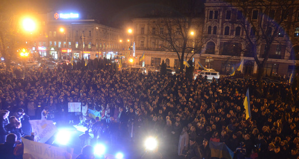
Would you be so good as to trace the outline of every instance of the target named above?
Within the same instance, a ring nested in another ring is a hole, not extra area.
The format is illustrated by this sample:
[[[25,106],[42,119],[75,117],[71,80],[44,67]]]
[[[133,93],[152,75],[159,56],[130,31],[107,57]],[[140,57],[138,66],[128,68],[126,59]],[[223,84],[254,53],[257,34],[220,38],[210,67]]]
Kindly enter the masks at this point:
[[[255,79],[130,73],[101,59],[87,67],[79,61],[76,66],[33,69],[25,78],[0,65],[0,143],[9,133],[17,140],[30,135],[29,119],[43,118],[91,129],[94,138],[81,135],[82,147],[101,140],[138,143],[155,136],[167,150],[154,154],[156,159],[173,154],[211,159],[210,142],[225,143],[235,159],[298,159],[298,88],[285,81],[265,83],[263,93],[258,87]],[[247,88],[248,119],[243,106]],[[69,113],[68,102],[81,102],[84,111]],[[101,116],[90,118],[88,109]]]

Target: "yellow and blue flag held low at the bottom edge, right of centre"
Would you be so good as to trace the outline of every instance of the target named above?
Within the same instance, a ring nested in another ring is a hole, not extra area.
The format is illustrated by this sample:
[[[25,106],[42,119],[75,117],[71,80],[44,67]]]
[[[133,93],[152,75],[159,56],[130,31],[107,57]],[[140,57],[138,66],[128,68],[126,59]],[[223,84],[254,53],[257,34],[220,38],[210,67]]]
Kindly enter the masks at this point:
[[[233,159],[234,152],[231,151],[224,143],[210,141],[211,157],[218,159]]]

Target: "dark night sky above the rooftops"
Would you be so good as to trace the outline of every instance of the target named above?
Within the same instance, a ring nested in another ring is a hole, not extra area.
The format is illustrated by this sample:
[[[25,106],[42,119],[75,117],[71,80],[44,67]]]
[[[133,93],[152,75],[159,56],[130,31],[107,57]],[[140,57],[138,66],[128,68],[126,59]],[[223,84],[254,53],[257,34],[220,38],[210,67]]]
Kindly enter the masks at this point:
[[[150,14],[154,8],[163,6],[161,0],[27,0],[29,7],[41,12],[77,11],[80,17],[99,19],[114,27],[134,17]],[[30,3],[30,4],[29,4]]]

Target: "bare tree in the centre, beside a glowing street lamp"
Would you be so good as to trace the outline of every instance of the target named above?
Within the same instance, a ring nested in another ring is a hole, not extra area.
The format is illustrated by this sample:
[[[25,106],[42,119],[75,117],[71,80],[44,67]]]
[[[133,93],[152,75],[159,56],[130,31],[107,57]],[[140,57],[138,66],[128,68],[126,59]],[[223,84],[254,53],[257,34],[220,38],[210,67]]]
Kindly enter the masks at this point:
[[[162,18],[156,22],[158,30],[158,37],[163,41],[159,47],[166,51],[175,52],[180,70],[183,70],[183,61],[188,61],[195,54],[201,53],[201,49],[206,40],[202,38],[203,22],[200,7],[200,0],[174,0],[169,6],[171,8],[165,9],[162,13]],[[165,28],[165,30],[163,30]],[[161,31],[163,30],[163,31]],[[191,35],[191,32],[194,35]]]

